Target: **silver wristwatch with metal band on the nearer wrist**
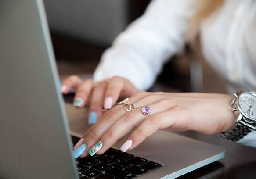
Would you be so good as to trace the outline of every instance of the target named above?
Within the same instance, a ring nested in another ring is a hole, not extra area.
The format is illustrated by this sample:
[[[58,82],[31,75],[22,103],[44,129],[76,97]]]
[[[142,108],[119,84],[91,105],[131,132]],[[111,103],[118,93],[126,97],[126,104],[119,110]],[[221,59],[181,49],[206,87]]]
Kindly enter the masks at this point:
[[[239,112],[239,116],[236,119],[238,124],[228,132],[222,132],[221,136],[238,142],[249,132],[256,129],[256,94],[238,91],[234,93],[231,106],[234,112]]]

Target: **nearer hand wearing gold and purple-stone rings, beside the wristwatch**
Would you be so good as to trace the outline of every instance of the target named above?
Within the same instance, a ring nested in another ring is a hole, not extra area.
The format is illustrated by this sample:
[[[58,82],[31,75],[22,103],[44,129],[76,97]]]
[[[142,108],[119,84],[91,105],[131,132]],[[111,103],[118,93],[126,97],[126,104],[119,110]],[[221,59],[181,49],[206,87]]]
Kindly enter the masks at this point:
[[[139,92],[126,102],[134,104],[134,110],[126,112],[122,105],[116,105],[105,112],[74,149],[84,144],[80,157],[85,157],[91,147],[101,142],[89,153],[103,154],[134,127],[137,129],[123,144],[122,151],[133,149],[158,129],[188,129],[203,134],[226,132],[235,125],[231,98],[225,94]],[[150,115],[143,114],[140,106],[149,106]]]

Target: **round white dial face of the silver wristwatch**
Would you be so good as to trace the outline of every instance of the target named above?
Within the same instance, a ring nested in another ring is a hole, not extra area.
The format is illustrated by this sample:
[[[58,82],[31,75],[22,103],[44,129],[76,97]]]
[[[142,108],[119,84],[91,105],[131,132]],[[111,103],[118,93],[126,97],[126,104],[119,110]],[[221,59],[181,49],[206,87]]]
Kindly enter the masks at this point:
[[[245,118],[256,121],[256,95],[254,93],[241,93],[238,97],[237,106]]]

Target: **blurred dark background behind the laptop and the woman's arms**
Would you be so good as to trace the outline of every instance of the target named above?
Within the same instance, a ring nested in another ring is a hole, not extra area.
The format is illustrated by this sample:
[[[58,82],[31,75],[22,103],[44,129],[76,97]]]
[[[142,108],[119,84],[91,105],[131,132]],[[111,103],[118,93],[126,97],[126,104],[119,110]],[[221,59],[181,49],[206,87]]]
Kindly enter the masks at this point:
[[[44,0],[61,79],[92,77],[101,54],[126,26],[141,16],[150,0]],[[165,64],[150,91],[226,93],[205,63],[200,44],[188,45]]]

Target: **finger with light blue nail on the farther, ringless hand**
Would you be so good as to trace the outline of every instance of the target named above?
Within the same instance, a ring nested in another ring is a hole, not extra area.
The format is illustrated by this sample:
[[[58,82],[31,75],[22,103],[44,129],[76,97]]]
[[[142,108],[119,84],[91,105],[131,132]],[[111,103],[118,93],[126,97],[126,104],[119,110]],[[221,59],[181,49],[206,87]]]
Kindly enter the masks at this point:
[[[94,91],[90,99],[89,124],[94,124],[97,121],[97,118],[101,117],[105,89],[105,83],[98,84],[94,87]]]

